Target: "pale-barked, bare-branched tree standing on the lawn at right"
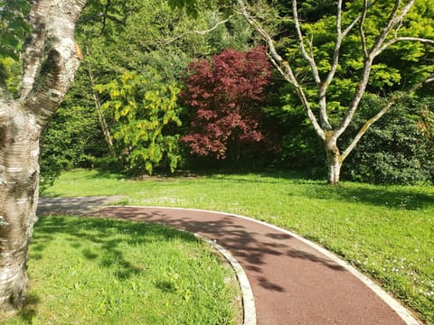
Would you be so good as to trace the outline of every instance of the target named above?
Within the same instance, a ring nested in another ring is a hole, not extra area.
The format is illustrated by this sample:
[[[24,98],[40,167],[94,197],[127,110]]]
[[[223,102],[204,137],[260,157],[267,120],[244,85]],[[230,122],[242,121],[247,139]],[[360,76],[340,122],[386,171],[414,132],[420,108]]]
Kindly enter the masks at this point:
[[[297,0],[292,0],[288,12],[292,14],[291,28],[296,42],[290,44],[292,47],[284,49],[288,53],[287,57],[279,54],[275,39],[252,14],[255,11],[250,5],[244,0],[237,0],[237,3],[240,14],[267,43],[269,59],[295,89],[316,135],[322,139],[327,156],[328,181],[331,184],[338,184],[344,160],[368,128],[396,102],[407,97],[423,83],[434,79],[432,65],[416,65],[419,70],[413,70],[412,74],[416,78],[406,80],[410,80],[411,84],[406,87],[402,82],[400,92],[389,92],[385,104],[365,121],[353,141],[341,149],[338,140],[352,122],[363,94],[372,86],[387,90],[400,81],[398,70],[389,69],[385,64],[376,64],[379,57],[389,49],[396,50],[397,44],[401,42],[405,42],[407,46],[416,42],[419,44],[417,51],[431,55],[432,58],[432,51],[429,54],[429,51],[420,45],[434,44],[429,2],[420,1],[419,6],[415,6],[415,0],[363,0],[345,3],[344,8],[343,0],[338,0],[335,15],[326,15],[319,23],[302,23]],[[425,11],[424,16],[419,14],[421,11]],[[415,28],[418,23],[428,23],[430,27],[422,31],[419,27]],[[333,38],[334,41],[318,40],[317,35],[321,35],[321,30],[330,31],[329,27],[332,25],[334,31],[328,32],[327,38]],[[413,51],[413,61],[420,60],[420,56],[414,54],[417,51]],[[303,62],[301,66],[298,65],[300,61]],[[343,67],[348,69],[344,79]]]

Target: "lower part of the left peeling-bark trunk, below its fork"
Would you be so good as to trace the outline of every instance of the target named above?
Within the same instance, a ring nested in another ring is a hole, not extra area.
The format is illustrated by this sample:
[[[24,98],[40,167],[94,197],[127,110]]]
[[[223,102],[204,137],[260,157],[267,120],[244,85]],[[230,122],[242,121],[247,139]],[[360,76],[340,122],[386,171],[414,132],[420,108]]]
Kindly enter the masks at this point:
[[[17,114],[0,131],[0,306],[4,310],[14,310],[24,301],[39,182],[41,131],[20,114],[21,107],[14,106]]]

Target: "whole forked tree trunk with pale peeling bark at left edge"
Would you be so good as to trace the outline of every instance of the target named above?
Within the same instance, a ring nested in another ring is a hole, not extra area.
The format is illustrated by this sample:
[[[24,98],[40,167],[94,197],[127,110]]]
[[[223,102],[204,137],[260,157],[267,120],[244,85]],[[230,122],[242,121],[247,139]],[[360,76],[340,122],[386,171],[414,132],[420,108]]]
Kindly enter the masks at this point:
[[[78,68],[75,23],[86,0],[31,0],[19,98],[0,84],[0,310],[24,302],[37,220],[39,140]]]

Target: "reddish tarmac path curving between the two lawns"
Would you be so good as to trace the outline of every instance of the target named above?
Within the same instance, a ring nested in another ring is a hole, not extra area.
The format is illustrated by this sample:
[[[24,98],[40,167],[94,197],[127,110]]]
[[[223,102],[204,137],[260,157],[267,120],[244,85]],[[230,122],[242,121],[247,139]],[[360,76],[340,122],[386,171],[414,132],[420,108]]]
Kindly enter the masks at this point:
[[[334,255],[250,218],[193,209],[116,206],[87,215],[164,223],[215,240],[244,268],[259,325],[418,324],[401,305],[368,281],[374,292],[361,280],[363,275]]]

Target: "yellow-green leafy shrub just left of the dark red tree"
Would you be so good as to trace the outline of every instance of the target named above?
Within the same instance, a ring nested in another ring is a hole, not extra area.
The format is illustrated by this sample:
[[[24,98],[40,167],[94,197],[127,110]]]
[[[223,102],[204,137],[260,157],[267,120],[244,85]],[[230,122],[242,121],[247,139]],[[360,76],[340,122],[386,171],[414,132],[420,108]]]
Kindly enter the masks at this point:
[[[126,72],[97,90],[109,94],[102,108],[114,120],[113,137],[124,167],[152,173],[166,158],[174,172],[180,159],[179,136],[170,128],[181,126],[175,83],[163,84],[155,72]]]

